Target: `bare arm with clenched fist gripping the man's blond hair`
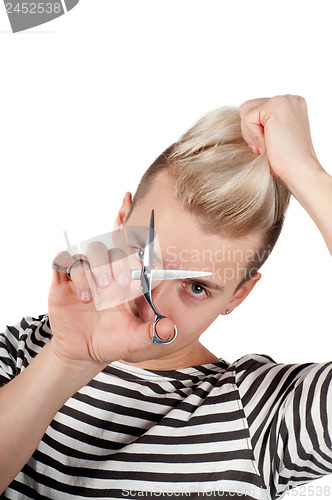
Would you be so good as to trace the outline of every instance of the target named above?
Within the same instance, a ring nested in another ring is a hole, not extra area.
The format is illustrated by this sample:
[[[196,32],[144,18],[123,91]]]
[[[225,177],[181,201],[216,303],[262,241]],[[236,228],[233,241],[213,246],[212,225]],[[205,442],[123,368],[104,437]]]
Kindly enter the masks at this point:
[[[240,106],[241,129],[253,152],[267,153],[273,176],[301,203],[332,254],[332,177],[320,165],[305,100],[284,95]]]

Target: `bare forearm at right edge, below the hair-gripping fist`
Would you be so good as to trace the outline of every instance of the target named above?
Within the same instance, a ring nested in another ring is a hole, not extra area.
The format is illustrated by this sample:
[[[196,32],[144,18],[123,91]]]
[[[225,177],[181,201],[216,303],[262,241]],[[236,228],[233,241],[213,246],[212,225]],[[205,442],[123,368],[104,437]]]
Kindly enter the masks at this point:
[[[286,184],[315,222],[332,255],[332,176],[320,165],[308,166],[301,175],[287,179]]]

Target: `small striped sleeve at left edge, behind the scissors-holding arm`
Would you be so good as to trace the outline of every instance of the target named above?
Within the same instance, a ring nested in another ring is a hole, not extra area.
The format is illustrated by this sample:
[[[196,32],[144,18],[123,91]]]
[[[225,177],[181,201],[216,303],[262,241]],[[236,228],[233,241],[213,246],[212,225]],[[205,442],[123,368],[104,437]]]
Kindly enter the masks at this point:
[[[0,331],[0,387],[21,373],[51,337],[48,314],[6,325]]]

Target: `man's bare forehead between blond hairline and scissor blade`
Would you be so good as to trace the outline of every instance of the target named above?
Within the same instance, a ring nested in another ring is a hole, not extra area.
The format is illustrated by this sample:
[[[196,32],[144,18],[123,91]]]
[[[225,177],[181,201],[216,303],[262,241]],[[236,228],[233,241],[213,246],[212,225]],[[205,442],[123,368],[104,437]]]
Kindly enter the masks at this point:
[[[242,238],[206,233],[198,225],[195,216],[183,208],[173,193],[174,181],[171,176],[160,174],[148,193],[137,203],[128,221],[128,225],[147,226],[151,210],[154,209],[156,246],[164,267],[209,268],[215,272],[225,266],[232,269],[248,266],[261,246],[261,233]]]

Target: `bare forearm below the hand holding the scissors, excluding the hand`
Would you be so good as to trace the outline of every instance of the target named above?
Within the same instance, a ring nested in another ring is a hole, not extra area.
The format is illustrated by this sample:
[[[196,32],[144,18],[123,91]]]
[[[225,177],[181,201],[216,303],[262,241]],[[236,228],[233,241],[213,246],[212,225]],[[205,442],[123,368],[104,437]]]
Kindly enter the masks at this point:
[[[47,344],[0,389],[0,494],[29,460],[54,415],[96,374],[75,362],[65,366]]]

